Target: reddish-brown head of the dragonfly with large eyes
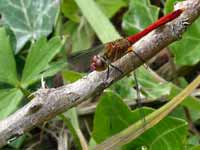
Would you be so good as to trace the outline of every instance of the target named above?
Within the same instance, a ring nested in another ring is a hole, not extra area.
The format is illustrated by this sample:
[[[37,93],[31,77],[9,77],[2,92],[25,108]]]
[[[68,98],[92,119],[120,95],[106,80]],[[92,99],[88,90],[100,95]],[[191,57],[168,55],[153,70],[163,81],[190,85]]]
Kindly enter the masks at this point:
[[[92,71],[94,71],[94,70],[96,70],[96,71],[103,71],[103,70],[105,70],[106,69],[105,60],[101,56],[95,55],[92,58],[90,69]]]

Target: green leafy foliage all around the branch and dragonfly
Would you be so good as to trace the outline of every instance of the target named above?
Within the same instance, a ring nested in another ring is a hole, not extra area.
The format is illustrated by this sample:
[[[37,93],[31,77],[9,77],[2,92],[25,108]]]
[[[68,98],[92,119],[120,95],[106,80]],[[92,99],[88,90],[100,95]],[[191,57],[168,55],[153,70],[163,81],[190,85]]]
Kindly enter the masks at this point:
[[[42,76],[48,77],[51,82],[52,77],[61,72],[65,84],[81,78],[83,74],[66,67],[65,50],[81,52],[93,46],[97,39],[106,43],[120,38],[111,19],[123,8],[125,12],[120,28],[128,36],[157,20],[159,12],[171,12],[175,2],[177,0],[167,0],[163,3],[164,8],[160,9],[149,0],[62,0],[60,3],[56,0],[0,0],[0,119],[28,102],[28,95],[40,86]],[[199,21],[187,30],[180,41],[169,47],[179,67],[192,67],[200,61]],[[146,99],[163,96],[171,99],[182,90],[172,82],[161,83],[143,67],[138,69],[137,76]],[[100,97],[90,146],[141,119],[140,110],[132,111],[125,103],[127,99],[136,98],[134,84],[131,74]],[[122,149],[198,149],[199,145],[194,141],[198,141],[199,137],[189,133],[183,106],[192,112],[193,121],[199,119],[200,100],[188,97],[173,114]],[[153,110],[144,108],[143,111],[148,114]],[[76,131],[80,127],[76,108],[64,113],[61,119],[77,137]],[[23,141],[14,143],[12,147],[22,147]],[[78,138],[75,138],[75,143],[81,149]]]

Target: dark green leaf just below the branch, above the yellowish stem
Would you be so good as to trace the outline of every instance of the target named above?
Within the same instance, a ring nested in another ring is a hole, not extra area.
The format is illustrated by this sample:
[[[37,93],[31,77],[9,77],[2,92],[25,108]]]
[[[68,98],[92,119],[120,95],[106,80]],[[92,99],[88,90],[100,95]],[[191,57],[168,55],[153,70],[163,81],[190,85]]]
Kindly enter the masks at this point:
[[[112,92],[105,92],[96,108],[93,138],[97,143],[100,143],[107,137],[128,127],[131,123],[133,123],[131,111],[123,100]]]

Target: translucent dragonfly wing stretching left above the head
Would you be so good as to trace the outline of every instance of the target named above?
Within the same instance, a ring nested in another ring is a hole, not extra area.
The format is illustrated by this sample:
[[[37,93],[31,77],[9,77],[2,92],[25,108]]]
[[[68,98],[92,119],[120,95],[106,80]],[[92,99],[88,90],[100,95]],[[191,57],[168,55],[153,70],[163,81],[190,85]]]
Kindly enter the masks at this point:
[[[68,56],[69,68],[79,72],[89,72],[91,59],[103,51],[105,45],[99,45]]]

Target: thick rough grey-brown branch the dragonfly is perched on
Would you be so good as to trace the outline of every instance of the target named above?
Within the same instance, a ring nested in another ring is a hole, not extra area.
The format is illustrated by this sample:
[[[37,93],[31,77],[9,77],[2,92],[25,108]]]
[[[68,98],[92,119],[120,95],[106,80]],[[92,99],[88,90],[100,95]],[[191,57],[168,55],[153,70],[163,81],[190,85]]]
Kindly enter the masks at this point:
[[[194,22],[199,16],[200,0],[180,2],[176,5],[176,9],[178,8],[185,9],[180,17],[154,30],[133,45],[136,53],[144,60],[149,60],[164,47],[180,39],[186,26]],[[9,139],[24,134],[35,125],[101,93],[106,87],[133,71],[142,63],[138,56],[129,53],[114,63],[124,72],[123,75],[111,68],[108,80],[106,80],[106,71],[94,71],[72,84],[56,89],[39,89],[31,102],[0,121],[0,147],[6,145]]]

